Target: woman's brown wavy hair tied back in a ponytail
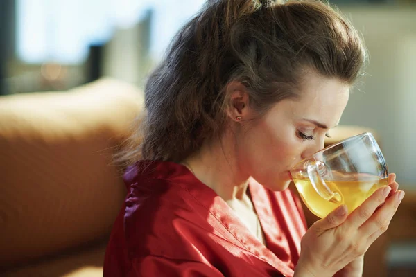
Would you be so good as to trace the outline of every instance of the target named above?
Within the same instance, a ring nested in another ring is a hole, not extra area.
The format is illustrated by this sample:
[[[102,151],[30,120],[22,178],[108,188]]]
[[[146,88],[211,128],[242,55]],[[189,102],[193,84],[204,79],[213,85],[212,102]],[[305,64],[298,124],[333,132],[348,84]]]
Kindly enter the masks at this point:
[[[351,85],[366,57],[356,30],[326,3],[210,0],[148,78],[146,115],[121,155],[182,161],[223,132],[229,82],[244,84],[262,114],[297,96],[304,69]]]

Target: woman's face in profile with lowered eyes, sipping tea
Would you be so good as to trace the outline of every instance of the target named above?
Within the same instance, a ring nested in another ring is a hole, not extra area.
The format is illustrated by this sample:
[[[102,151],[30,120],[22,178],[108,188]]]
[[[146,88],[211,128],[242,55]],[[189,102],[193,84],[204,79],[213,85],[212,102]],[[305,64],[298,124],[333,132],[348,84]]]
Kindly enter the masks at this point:
[[[271,190],[287,188],[289,170],[324,148],[325,135],[338,125],[348,98],[347,84],[310,73],[299,98],[277,102],[255,123],[241,122],[236,136],[241,172]]]

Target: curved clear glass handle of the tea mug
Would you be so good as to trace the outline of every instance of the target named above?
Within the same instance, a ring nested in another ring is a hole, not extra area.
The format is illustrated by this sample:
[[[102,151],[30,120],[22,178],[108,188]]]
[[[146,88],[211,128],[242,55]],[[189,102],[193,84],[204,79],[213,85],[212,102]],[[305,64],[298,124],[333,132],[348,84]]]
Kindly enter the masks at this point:
[[[327,173],[327,166],[321,161],[309,161],[307,168],[311,184],[318,195],[329,202],[340,204],[342,202],[341,195],[334,193],[322,178],[322,175]]]

